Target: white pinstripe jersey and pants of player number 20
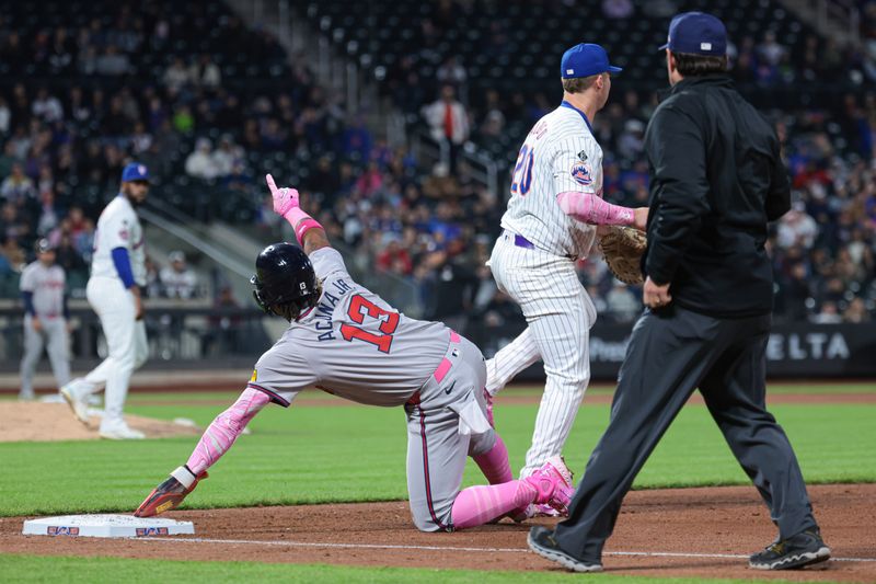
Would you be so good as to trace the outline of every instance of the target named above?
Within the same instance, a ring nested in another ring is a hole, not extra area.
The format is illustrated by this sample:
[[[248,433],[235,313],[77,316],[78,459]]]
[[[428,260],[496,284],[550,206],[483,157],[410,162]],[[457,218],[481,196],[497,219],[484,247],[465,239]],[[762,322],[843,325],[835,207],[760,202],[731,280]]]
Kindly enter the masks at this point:
[[[562,453],[590,380],[596,308],[575,261],[589,253],[596,228],[572,219],[556,202],[570,191],[602,195],[602,149],[584,113],[563,102],[542,117],[520,149],[512,181],[489,265],[528,327],[487,362],[487,390],[495,394],[539,357],[544,362],[548,382],[520,472],[526,477]]]

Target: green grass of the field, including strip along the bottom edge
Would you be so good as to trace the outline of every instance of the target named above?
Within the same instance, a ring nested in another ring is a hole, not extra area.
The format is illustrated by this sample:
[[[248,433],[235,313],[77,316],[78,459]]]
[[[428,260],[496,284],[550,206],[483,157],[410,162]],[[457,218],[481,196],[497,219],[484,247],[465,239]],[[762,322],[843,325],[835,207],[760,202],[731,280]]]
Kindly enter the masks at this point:
[[[771,390],[788,392],[812,388],[779,386]],[[838,390],[876,392],[876,385],[842,386]],[[220,400],[230,404],[234,397],[232,393],[134,394],[128,411],[168,420],[191,417],[206,425],[223,409],[211,402]],[[515,469],[521,465],[529,445],[535,411],[534,404],[499,402],[496,408],[497,427],[508,445]],[[876,444],[876,425],[873,424],[876,404],[776,404],[771,411],[791,437],[807,481],[876,482],[876,468],[861,465],[871,457]],[[566,444],[567,462],[576,472],[583,470],[608,417],[609,405],[588,404],[585,400]],[[270,406],[251,427],[253,434],[241,437],[211,469],[210,479],[186,500],[187,508],[406,499],[406,434],[400,409],[293,405],[285,410]],[[130,512],[170,470],[185,462],[195,443],[196,438],[191,437],[130,443],[0,444],[0,468],[14,469],[0,473],[0,516]],[[476,467],[470,463],[465,484],[482,481]],[[747,482],[706,409],[690,405],[652,456],[636,488]],[[60,561],[0,556],[0,573],[18,574],[24,581],[30,573],[47,574],[47,570],[56,569],[51,568],[55,566],[53,562]],[[139,570],[145,575],[153,574],[157,565],[114,559],[62,561],[70,566],[77,565],[76,562],[88,563],[90,582],[100,581],[95,574],[111,577],[122,564],[126,572],[130,570],[137,574]],[[316,574],[326,574],[331,580],[349,582],[416,582],[436,576],[428,570],[221,563],[186,563],[183,569],[176,562],[160,565],[162,575],[191,575],[191,570],[196,570],[198,577],[211,581],[249,580],[247,574],[258,581],[313,580]],[[505,582],[511,576],[441,572],[440,577],[454,582],[475,579],[491,582],[493,577],[502,577]],[[600,581],[604,580],[600,576]]]

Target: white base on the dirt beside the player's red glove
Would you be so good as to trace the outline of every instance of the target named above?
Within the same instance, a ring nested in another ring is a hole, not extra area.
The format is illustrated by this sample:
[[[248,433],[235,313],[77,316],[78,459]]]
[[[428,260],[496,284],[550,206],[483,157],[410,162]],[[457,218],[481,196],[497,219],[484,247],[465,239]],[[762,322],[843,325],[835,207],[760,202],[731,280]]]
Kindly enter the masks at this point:
[[[146,537],[193,535],[192,522],[132,515],[62,515],[24,522],[25,536]]]

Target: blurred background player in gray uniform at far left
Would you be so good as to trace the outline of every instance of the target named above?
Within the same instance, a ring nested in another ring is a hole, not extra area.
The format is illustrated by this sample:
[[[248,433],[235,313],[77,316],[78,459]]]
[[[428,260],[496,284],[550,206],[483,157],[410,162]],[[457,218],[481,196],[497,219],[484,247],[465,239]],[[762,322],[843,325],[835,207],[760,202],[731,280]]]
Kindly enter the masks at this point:
[[[25,314],[20,400],[34,399],[34,371],[44,347],[48,351],[58,387],[70,380],[66,276],[64,268],[55,263],[55,249],[48,240],[41,239],[36,243],[36,254],[37,260],[27,264],[21,274]]]

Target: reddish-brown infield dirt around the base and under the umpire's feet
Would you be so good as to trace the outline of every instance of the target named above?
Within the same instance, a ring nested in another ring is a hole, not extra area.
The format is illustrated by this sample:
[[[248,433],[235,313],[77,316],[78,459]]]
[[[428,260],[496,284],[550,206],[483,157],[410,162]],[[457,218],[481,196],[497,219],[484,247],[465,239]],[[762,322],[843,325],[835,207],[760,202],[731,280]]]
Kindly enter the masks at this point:
[[[843,561],[802,571],[750,570],[744,558],[721,556],[746,556],[775,536],[754,489],[669,489],[634,491],[627,496],[606,548],[606,570],[642,576],[876,581],[876,484],[816,485],[809,491],[825,538],[834,558]],[[22,522],[30,517],[5,517],[0,518],[0,552],[558,570],[526,547],[529,527],[553,523],[548,519],[521,525],[505,519],[456,534],[423,534],[412,525],[404,502],[182,511],[164,516],[193,520],[196,536],[161,540],[25,537]]]

